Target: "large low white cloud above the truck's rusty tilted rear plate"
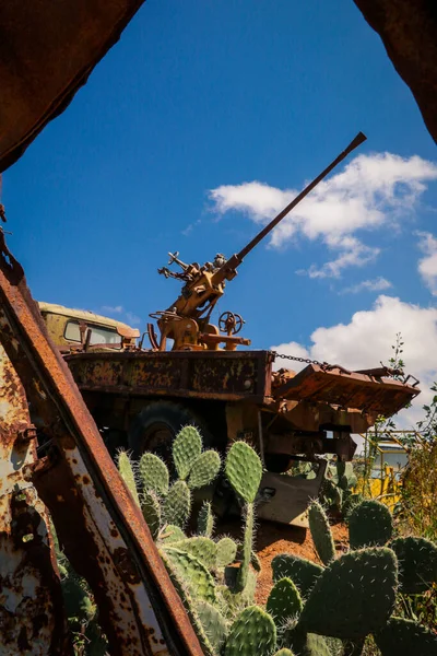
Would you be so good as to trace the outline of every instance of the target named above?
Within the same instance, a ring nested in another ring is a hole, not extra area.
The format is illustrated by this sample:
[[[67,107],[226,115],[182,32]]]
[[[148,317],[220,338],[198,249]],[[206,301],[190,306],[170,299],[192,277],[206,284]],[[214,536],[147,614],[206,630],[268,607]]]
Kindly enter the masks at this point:
[[[423,390],[412,408],[399,415],[400,425],[411,427],[422,417],[422,406],[429,402],[434,394],[429,387],[437,379],[437,308],[380,295],[371,309],[355,313],[349,324],[317,328],[310,345],[290,342],[272,350],[359,370],[379,366],[380,361],[387,363],[398,332],[404,341],[406,371],[420,378]],[[275,366],[300,371],[306,365],[276,360]]]

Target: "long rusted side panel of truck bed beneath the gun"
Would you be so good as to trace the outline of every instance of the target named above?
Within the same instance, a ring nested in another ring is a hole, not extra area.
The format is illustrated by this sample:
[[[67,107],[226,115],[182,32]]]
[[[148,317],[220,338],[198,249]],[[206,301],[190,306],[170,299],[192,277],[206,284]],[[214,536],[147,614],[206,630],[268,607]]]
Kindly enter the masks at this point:
[[[269,351],[126,351],[66,360],[79,388],[87,391],[260,402],[270,395]]]

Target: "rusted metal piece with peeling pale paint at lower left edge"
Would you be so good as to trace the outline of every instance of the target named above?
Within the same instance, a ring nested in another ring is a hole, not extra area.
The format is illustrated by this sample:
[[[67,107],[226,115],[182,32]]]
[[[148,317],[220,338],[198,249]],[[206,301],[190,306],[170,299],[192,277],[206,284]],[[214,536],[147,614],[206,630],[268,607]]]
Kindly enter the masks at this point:
[[[23,476],[36,460],[34,434],[24,389],[0,345],[0,652],[68,656],[47,511]]]

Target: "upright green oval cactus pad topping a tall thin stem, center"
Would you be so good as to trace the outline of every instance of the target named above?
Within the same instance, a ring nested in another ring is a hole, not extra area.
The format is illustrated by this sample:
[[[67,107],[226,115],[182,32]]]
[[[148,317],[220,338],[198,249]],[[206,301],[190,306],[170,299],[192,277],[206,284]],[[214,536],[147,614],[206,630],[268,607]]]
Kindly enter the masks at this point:
[[[246,442],[234,442],[226,457],[226,477],[235,492],[253,503],[261,483],[262,464]]]

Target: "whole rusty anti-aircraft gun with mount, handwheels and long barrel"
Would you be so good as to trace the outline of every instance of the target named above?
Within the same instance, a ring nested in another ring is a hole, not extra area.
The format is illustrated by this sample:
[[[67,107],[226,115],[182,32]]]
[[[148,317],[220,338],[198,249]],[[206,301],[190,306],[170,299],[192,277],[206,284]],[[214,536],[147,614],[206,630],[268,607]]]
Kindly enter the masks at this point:
[[[268,225],[265,225],[241,250],[228,260],[217,254],[213,262],[200,266],[198,262],[186,265],[179,259],[179,253],[169,253],[168,266],[177,263],[181,271],[172,271],[168,267],[158,269],[158,273],[166,278],[181,280],[185,284],[178,298],[166,311],[160,311],[150,316],[157,320],[161,339],[157,342],[153,327],[149,326],[152,345],[161,351],[166,350],[167,338],[173,339],[173,350],[204,350],[220,349],[225,344],[226,350],[235,350],[238,344],[250,344],[250,340],[236,337],[243,326],[239,315],[224,313],[218,319],[218,326],[210,324],[211,313],[217,301],[223,296],[226,281],[237,276],[237,268],[244,258],[270,234],[276,225],[323,179],[342,162],[353,150],[366,140],[363,132],[351,141],[347,148],[340,153],[300,194],[294,198]],[[234,317],[234,318],[233,318]]]

